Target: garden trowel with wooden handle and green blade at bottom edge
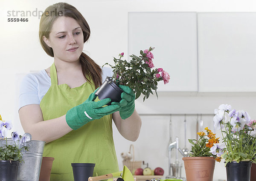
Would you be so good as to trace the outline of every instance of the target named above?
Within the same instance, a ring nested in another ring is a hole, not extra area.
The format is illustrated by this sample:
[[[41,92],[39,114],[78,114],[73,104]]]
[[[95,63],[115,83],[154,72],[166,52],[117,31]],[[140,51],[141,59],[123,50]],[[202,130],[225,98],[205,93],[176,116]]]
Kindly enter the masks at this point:
[[[108,181],[113,181],[114,177],[122,177],[124,181],[134,181],[133,175],[131,174],[130,170],[126,166],[124,166],[123,171],[121,172],[113,172],[106,175],[89,177],[88,181],[101,181],[105,179],[108,179]]]

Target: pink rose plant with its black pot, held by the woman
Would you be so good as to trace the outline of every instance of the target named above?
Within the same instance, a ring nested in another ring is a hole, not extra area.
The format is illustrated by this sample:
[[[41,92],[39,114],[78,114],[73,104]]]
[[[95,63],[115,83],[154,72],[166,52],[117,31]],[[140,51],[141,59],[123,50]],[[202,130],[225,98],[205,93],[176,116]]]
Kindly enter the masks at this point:
[[[154,55],[151,52],[153,49],[150,47],[144,51],[140,50],[140,56],[130,55],[132,58],[130,62],[122,60],[124,53],[120,53],[118,59],[114,57],[114,66],[105,63],[103,66],[108,64],[113,69],[113,77],[107,77],[95,93],[99,99],[111,98],[112,102],[119,102],[121,100],[120,95],[123,92],[119,85],[133,89],[134,93],[136,93],[135,99],[143,94],[143,101],[145,101],[145,98],[153,94],[152,90],[157,95],[157,82],[163,80],[164,84],[166,84],[169,82],[170,76],[162,68],[152,69],[154,68],[152,61]]]

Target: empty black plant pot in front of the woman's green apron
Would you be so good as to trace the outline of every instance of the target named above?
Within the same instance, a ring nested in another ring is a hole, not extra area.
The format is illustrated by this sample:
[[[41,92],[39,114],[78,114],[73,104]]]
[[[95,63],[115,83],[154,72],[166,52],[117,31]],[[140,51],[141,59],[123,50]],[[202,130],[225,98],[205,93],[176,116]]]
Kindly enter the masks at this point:
[[[74,163],[73,168],[74,181],[88,181],[89,177],[93,176],[95,164]]]

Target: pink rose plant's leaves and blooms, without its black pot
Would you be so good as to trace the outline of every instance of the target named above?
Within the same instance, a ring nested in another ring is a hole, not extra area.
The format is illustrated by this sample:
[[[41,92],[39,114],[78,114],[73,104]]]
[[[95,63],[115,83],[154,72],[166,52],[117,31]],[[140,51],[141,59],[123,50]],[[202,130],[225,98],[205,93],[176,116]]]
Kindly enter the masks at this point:
[[[105,65],[111,66],[113,69],[113,77],[111,80],[117,85],[128,86],[134,90],[136,94],[135,99],[139,98],[141,94],[144,95],[143,101],[148,98],[150,94],[155,91],[157,96],[157,82],[163,80],[164,84],[168,83],[170,76],[162,68],[152,69],[154,63],[154,55],[152,50],[154,48],[140,50],[140,55],[130,55],[130,61],[122,60],[124,53],[119,53],[119,58],[114,57],[115,65],[109,63]],[[104,65],[103,65],[104,66]],[[161,74],[159,72],[162,72]],[[158,97],[158,96],[157,96]]]

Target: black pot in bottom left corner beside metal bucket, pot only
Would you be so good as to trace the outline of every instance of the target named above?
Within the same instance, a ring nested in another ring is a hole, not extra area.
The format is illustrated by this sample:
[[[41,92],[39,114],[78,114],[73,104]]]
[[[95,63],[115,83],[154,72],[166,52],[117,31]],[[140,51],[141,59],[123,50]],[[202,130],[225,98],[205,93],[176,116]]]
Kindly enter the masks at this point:
[[[20,161],[0,160],[0,180],[17,181],[17,173]]]

